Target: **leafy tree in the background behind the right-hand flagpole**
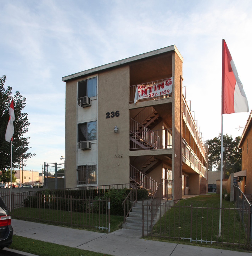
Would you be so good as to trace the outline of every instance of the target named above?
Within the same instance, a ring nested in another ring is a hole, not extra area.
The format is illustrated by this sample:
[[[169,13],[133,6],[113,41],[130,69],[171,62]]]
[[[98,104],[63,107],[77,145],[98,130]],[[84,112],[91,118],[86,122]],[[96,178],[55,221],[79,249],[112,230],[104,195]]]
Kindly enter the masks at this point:
[[[228,134],[223,135],[223,173],[224,178],[228,178],[231,173],[241,171],[241,149],[238,148],[240,136],[234,140]],[[211,140],[207,140],[208,144],[208,171],[220,171],[220,146],[221,134]]]

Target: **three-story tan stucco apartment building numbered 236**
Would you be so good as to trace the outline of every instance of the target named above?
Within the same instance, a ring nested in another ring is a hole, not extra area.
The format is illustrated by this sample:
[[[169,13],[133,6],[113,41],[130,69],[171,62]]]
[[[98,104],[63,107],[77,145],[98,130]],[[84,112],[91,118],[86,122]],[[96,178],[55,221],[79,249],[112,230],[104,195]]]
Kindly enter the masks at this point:
[[[173,45],[63,77],[67,188],[137,183],[155,192],[162,183],[174,200],[206,193],[207,147],[182,64]]]

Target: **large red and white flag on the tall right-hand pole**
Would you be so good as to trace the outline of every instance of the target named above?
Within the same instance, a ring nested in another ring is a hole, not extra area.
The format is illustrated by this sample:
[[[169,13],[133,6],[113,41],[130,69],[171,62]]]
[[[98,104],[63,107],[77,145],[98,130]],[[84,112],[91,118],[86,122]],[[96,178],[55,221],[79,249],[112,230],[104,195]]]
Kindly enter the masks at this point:
[[[248,112],[248,101],[234,61],[222,40],[222,114]]]

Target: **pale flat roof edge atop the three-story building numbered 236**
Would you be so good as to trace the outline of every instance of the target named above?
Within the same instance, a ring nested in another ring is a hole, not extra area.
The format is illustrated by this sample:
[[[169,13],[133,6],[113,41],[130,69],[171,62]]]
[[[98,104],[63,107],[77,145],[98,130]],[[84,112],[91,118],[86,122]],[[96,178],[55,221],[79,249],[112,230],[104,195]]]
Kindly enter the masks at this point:
[[[140,59],[144,59],[144,58],[147,58],[147,57],[151,57],[151,56],[155,56],[155,55],[158,55],[158,54],[161,54],[161,53],[166,53],[166,52],[171,52],[171,51],[176,52],[178,54],[179,58],[183,62],[183,57],[181,56],[177,47],[175,45],[172,45],[172,46],[167,46],[167,47],[164,47],[164,48],[161,48],[161,49],[158,49],[158,50],[153,50],[151,52],[142,53],[142,54],[139,54],[139,55],[136,55],[136,56],[133,56],[133,57],[126,58],[126,59],[118,60],[116,62],[111,62],[111,63],[105,64],[105,65],[101,65],[101,66],[98,66],[96,68],[87,69],[87,70],[84,70],[84,71],[81,71],[81,72],[78,72],[78,73],[75,73],[75,74],[72,74],[72,75],[63,76],[62,81],[65,82],[67,80],[78,78],[79,76],[85,76],[85,75],[88,75],[90,73],[96,73],[98,71],[105,70],[105,69],[108,69],[108,68],[113,68],[113,67],[123,65],[123,64],[127,64],[127,63],[133,62],[135,60],[140,60]]]

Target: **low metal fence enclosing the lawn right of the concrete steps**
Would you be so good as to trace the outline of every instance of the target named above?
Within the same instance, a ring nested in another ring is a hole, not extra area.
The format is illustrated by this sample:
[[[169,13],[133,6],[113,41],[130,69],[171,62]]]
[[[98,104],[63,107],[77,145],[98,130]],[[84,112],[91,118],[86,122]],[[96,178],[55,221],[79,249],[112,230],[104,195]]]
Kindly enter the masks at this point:
[[[147,206],[148,207],[148,206]],[[158,209],[154,219],[143,210],[142,234],[159,239],[187,240],[204,244],[229,244],[251,248],[251,208],[240,204],[221,208],[221,235],[219,236],[219,207],[192,206],[170,203],[149,205]]]

